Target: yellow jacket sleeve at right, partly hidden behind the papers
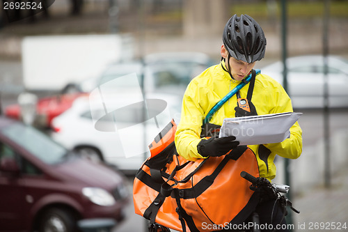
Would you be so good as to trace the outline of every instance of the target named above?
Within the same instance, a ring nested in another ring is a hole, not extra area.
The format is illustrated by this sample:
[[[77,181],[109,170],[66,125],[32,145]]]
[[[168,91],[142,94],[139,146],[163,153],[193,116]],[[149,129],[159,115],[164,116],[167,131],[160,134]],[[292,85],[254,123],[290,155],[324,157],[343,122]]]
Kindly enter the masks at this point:
[[[272,94],[276,100],[276,104],[269,112],[270,114],[293,111],[291,100],[282,86],[279,86]],[[281,143],[264,144],[264,146],[281,157],[290,159],[298,158],[302,153],[302,130],[299,123],[294,123],[290,128],[290,138],[285,139]]]

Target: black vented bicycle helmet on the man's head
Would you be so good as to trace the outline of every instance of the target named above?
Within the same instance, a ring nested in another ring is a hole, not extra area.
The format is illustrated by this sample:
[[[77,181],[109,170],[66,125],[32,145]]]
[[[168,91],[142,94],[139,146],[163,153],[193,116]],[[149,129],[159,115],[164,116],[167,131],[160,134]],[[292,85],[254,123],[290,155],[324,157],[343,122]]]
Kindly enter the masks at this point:
[[[223,45],[230,56],[253,63],[264,57],[266,38],[261,26],[248,15],[233,15],[223,29]]]

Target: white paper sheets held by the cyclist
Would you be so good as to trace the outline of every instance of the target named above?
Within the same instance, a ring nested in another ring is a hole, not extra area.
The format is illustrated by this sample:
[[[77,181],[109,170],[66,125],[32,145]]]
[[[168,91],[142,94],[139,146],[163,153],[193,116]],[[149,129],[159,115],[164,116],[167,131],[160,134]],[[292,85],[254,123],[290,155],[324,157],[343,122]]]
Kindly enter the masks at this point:
[[[235,136],[239,145],[273,144],[290,137],[290,127],[302,113],[225,118],[219,137]]]

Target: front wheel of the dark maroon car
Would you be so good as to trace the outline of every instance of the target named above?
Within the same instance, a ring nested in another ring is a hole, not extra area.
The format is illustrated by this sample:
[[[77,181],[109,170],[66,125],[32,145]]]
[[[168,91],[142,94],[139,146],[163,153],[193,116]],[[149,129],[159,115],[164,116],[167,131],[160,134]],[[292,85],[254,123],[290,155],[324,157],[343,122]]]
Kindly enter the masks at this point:
[[[74,232],[77,222],[69,210],[50,208],[40,220],[39,232]]]

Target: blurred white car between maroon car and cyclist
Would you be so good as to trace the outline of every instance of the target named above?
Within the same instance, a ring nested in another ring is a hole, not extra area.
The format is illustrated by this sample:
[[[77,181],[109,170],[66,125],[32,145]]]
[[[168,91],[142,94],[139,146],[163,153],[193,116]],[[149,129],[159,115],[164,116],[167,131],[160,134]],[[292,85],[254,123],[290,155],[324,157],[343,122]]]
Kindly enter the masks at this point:
[[[147,95],[144,120],[144,105],[134,103],[132,98],[115,98],[116,109],[109,113],[100,102],[79,98],[70,109],[54,118],[51,137],[84,157],[134,174],[150,155],[148,145],[155,136],[171,118],[180,121],[181,99],[177,95]],[[117,107],[120,105],[127,106]]]

